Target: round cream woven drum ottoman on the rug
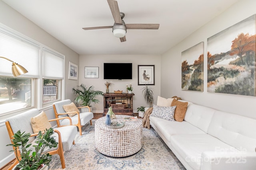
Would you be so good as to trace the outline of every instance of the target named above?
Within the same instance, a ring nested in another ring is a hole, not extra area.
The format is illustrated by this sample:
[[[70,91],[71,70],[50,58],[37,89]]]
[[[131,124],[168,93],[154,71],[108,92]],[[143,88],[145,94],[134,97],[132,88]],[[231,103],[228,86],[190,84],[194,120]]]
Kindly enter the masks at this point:
[[[127,115],[116,115],[116,119],[123,121]],[[142,120],[125,121],[118,129],[105,125],[106,117],[95,122],[95,147],[105,156],[125,158],[136,154],[142,148]]]

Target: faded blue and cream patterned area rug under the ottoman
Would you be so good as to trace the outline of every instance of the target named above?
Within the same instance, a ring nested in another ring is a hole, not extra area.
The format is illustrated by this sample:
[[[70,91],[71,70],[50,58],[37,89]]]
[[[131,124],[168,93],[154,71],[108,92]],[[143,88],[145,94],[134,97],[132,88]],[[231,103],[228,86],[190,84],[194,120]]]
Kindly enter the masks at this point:
[[[143,147],[127,158],[109,158],[94,147],[94,122],[82,127],[75,145],[64,153],[64,170],[186,170],[154,129],[143,128]],[[52,156],[49,170],[63,170],[57,154]]]

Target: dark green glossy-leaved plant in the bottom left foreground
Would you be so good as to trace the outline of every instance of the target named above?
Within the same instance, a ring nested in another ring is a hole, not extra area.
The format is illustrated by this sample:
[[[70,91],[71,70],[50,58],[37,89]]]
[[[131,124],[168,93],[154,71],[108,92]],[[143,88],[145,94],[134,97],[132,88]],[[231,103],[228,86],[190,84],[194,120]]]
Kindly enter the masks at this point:
[[[14,134],[14,139],[12,139],[12,144],[6,145],[15,148],[15,150],[11,151],[16,153],[16,158],[19,160],[14,170],[47,170],[52,160],[52,155],[44,152],[58,145],[58,142],[52,137],[53,134],[54,130],[52,128],[46,129],[44,133],[39,131],[36,141],[32,145],[32,143],[28,143],[30,133],[17,131]],[[17,150],[20,150],[20,157],[17,154]]]

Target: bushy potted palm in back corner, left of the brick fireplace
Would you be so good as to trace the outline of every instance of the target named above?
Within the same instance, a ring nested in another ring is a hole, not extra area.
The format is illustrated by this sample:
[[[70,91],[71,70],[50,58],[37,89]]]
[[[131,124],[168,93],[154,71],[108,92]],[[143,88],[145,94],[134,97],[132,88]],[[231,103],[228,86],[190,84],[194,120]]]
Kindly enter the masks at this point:
[[[96,97],[103,96],[103,92],[94,90],[94,86],[90,86],[88,88],[88,87],[86,87],[85,84],[81,84],[80,86],[77,86],[77,89],[72,88],[72,91],[76,95],[74,103],[80,104],[81,106],[92,107],[92,106],[90,106],[91,103],[100,102],[98,99],[96,99]],[[88,108],[82,108],[82,109],[88,109]],[[84,110],[82,112],[86,112],[86,110]]]

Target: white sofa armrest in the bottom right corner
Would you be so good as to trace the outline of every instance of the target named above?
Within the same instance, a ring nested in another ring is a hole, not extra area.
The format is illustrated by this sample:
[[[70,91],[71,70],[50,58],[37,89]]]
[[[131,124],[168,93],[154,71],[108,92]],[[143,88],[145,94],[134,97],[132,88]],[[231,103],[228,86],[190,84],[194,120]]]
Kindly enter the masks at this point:
[[[256,152],[253,151],[205,151],[201,155],[201,170],[241,170],[254,169],[255,167]]]

